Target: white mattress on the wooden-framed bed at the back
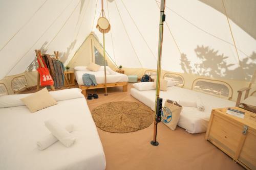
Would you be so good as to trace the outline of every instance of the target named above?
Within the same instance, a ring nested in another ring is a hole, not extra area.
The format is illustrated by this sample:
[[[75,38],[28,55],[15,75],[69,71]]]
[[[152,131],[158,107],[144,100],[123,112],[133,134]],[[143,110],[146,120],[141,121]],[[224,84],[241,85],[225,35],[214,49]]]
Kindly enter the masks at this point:
[[[105,83],[104,71],[75,71],[76,81],[79,85],[84,85],[82,81],[83,74],[95,75],[97,84]],[[106,75],[106,83],[117,83],[117,82],[127,82],[128,77],[124,74],[114,72],[111,75]]]

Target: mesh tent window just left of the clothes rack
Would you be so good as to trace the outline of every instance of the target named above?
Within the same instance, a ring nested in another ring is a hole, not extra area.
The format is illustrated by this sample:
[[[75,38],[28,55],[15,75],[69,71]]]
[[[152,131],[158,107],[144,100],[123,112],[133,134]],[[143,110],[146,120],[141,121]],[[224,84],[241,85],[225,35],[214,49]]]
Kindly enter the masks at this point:
[[[11,84],[14,93],[18,93],[28,87],[28,82],[24,75],[13,78]]]

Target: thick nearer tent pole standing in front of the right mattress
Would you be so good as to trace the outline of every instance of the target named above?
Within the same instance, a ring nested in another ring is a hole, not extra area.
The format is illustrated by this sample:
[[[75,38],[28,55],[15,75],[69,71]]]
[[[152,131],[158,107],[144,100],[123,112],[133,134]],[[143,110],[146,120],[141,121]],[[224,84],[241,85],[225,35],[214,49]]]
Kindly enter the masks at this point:
[[[160,90],[160,77],[161,77],[161,59],[162,59],[162,44],[163,44],[163,22],[165,21],[165,0],[161,0],[160,5],[160,22],[159,22],[159,40],[158,40],[158,59],[157,59],[157,82],[156,82],[156,104],[155,104],[155,120],[154,120],[154,136],[151,141],[152,145],[157,146],[157,116],[158,108],[157,101],[159,101],[159,90]]]

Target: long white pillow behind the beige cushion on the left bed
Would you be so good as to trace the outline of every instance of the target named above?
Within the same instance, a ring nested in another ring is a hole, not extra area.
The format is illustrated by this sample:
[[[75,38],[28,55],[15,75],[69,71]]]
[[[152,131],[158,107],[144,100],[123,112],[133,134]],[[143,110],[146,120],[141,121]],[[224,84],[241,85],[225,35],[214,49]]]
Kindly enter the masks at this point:
[[[55,99],[56,101],[84,98],[83,94],[81,93],[81,89],[79,88],[50,91],[49,93],[51,94],[53,99]],[[25,106],[25,104],[20,99],[26,98],[31,94],[33,93],[0,96],[0,108]]]

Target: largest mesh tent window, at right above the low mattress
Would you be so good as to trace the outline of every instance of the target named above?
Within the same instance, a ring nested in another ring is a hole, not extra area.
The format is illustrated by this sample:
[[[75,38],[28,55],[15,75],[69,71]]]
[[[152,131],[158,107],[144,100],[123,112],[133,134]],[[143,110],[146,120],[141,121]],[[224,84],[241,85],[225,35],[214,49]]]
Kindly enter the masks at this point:
[[[215,95],[224,99],[231,99],[233,95],[232,87],[220,80],[210,80],[199,78],[194,80],[192,90],[200,91],[206,94]]]

